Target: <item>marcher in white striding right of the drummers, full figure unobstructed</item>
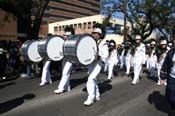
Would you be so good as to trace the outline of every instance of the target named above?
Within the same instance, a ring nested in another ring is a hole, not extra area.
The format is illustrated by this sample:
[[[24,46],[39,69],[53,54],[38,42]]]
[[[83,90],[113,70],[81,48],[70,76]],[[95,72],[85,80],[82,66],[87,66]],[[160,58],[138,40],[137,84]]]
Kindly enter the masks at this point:
[[[135,42],[136,42],[136,46],[133,49],[133,53],[132,53],[134,78],[131,84],[133,85],[139,82],[139,74],[142,69],[142,64],[145,63],[145,45],[141,43],[140,35],[136,35]]]

